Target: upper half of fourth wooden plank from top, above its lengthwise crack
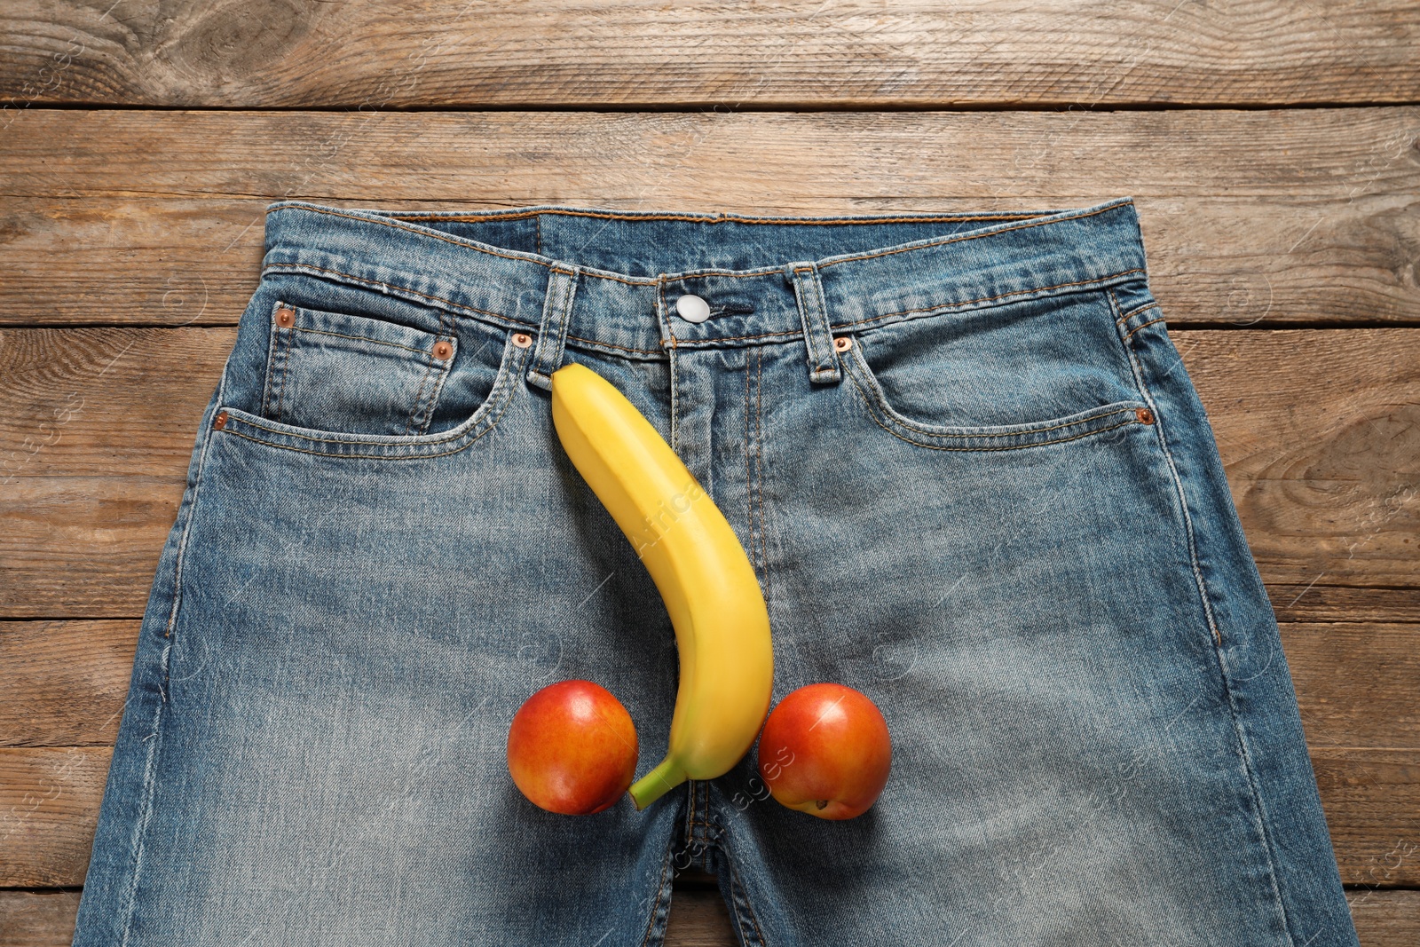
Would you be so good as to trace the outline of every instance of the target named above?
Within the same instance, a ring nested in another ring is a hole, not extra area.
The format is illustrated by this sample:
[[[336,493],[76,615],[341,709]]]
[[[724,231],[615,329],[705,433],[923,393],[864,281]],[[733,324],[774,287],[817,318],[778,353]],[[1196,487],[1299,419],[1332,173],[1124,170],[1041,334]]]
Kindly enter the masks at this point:
[[[112,745],[138,620],[0,622],[0,745]],[[1420,625],[1284,623],[1312,747],[1420,748]]]

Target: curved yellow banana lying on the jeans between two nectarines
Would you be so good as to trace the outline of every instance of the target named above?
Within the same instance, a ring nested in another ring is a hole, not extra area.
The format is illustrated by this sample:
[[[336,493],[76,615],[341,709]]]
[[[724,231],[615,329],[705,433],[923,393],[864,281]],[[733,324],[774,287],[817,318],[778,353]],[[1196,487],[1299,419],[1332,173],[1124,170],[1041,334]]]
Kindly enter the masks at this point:
[[[611,382],[575,362],[552,372],[552,423],[636,548],[676,629],[670,750],[630,788],[645,809],[687,778],[723,775],[754,743],[774,683],[770,613],[724,514]]]

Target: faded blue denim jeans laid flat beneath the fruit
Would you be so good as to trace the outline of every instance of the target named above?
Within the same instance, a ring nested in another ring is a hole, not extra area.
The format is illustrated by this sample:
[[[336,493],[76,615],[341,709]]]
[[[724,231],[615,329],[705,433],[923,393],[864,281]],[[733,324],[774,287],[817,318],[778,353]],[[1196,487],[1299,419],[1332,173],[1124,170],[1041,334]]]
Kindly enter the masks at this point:
[[[645,812],[514,788],[538,687],[615,693],[638,775],[676,694],[656,589],[552,430],[569,361],[737,530],[775,700],[882,708],[865,815],[780,806],[754,751]],[[1356,943],[1129,200],[270,209],[74,943],[645,947],[692,863],[755,946]]]

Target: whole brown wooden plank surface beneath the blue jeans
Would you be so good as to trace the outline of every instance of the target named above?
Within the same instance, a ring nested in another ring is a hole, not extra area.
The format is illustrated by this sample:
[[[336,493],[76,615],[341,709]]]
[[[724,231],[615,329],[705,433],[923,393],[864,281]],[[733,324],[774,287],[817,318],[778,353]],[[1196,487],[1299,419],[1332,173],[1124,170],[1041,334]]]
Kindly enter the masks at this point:
[[[1122,195],[1282,622],[1362,943],[1420,943],[1417,4],[0,17],[0,944],[68,943],[138,618],[268,202]],[[709,877],[680,879],[669,940],[733,943]]]

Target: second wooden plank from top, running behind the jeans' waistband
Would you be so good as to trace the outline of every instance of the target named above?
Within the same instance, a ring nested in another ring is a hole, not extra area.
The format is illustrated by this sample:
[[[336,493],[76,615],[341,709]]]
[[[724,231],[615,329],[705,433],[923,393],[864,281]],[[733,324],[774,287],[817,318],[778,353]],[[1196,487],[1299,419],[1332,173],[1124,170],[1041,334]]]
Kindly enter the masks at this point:
[[[0,135],[0,322],[231,324],[285,197],[828,214],[1133,195],[1176,324],[1420,324],[1417,141],[1416,108],[30,112]]]

